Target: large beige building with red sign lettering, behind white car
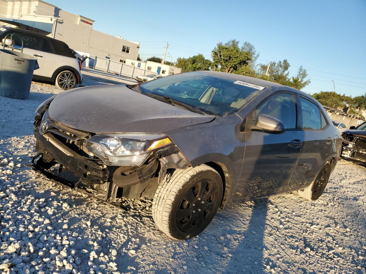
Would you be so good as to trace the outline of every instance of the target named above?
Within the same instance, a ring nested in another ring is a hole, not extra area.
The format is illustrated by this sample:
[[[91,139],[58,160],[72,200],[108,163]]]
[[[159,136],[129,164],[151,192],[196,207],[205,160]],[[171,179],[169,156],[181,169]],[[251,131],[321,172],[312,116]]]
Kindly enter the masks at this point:
[[[94,22],[41,0],[0,0],[1,25],[44,34],[75,51],[117,62],[137,59],[140,43],[93,30]]]

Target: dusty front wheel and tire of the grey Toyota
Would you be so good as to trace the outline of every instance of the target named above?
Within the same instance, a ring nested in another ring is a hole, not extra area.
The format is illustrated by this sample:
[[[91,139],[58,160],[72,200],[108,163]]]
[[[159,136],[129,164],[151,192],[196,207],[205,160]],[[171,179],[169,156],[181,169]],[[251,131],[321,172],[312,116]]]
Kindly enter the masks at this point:
[[[153,219],[169,237],[189,239],[209,225],[222,197],[223,182],[212,167],[203,164],[177,169],[159,183],[153,200]]]

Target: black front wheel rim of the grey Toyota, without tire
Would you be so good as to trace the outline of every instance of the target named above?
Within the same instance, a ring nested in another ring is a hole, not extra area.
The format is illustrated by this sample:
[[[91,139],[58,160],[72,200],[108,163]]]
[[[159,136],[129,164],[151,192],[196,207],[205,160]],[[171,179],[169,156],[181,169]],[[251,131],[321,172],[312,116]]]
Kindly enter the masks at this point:
[[[177,212],[177,224],[183,232],[192,232],[210,221],[215,214],[217,187],[211,180],[203,179],[188,189]]]

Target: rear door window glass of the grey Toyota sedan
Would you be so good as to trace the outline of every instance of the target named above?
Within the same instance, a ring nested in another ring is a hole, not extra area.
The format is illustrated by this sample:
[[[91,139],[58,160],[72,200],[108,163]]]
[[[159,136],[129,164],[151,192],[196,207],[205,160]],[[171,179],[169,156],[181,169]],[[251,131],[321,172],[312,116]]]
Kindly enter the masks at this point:
[[[302,108],[302,128],[321,129],[320,109],[309,100],[300,97]]]

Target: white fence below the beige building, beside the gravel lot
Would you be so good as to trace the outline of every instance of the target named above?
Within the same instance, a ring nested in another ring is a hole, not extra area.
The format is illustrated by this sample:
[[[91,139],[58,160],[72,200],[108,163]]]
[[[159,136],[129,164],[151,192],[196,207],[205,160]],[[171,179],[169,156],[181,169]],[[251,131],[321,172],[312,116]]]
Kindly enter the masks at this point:
[[[155,73],[146,69],[137,68],[123,64],[122,62],[113,61],[107,58],[97,56],[90,56],[89,68],[97,69],[98,71],[105,71],[117,75],[122,75],[130,78],[135,78],[138,75],[147,75]]]

